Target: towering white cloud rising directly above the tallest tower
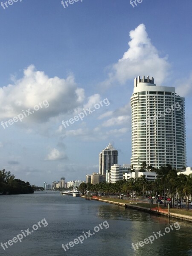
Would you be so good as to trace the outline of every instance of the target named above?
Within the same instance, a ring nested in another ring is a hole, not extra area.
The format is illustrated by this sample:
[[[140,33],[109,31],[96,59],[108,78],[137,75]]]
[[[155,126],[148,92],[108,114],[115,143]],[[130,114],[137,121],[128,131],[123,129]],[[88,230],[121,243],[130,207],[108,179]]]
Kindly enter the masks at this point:
[[[109,87],[116,82],[125,84],[128,79],[143,75],[153,76],[157,84],[162,84],[169,75],[168,57],[160,57],[158,50],[151,44],[144,24],[131,30],[129,35],[129,49],[116,64],[113,64],[108,79],[101,85]]]

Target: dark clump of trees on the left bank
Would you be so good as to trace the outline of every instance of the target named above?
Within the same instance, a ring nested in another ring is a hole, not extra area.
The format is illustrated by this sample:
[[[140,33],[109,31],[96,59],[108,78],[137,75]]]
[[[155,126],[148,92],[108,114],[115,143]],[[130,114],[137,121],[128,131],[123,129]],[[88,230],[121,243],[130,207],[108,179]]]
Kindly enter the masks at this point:
[[[15,175],[0,170],[0,195],[32,194],[34,188],[27,181],[15,179]]]

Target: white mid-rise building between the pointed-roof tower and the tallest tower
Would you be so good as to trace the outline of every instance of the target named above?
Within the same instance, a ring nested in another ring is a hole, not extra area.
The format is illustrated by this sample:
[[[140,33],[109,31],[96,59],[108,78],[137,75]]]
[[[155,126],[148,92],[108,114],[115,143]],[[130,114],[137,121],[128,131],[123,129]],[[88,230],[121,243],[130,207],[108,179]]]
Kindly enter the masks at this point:
[[[131,165],[124,164],[123,166],[120,166],[118,164],[114,164],[111,166],[110,170],[107,170],[106,174],[106,181],[108,183],[115,183],[118,180],[123,179],[123,173],[128,172],[128,169],[130,168]]]

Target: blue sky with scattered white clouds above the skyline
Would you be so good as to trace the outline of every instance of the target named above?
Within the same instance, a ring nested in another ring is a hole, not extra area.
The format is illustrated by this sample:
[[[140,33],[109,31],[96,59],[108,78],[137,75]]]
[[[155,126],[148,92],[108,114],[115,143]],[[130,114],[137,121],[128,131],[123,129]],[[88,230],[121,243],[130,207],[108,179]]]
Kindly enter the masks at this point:
[[[130,163],[130,97],[143,75],[185,97],[192,166],[191,0],[5,2],[0,169],[37,186],[85,180],[110,142]]]

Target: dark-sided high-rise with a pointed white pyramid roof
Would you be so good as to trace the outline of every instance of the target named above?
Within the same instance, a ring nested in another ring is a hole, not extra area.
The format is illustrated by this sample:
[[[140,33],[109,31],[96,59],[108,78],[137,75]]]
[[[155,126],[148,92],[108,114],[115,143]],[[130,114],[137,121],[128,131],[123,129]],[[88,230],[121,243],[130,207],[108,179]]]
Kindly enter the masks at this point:
[[[111,143],[99,153],[99,174],[106,175],[106,171],[111,169],[113,164],[118,164],[118,151]]]

